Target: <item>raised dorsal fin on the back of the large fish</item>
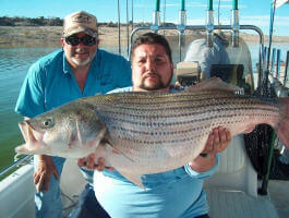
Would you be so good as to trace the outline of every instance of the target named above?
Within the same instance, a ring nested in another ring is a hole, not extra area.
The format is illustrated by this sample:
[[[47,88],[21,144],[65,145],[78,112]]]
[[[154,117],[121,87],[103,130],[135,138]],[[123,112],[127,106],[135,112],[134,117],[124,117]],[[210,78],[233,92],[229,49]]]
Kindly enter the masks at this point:
[[[227,90],[227,92],[241,92],[242,88],[232,84],[221,81],[219,77],[210,77],[201,83],[188,87],[184,92],[197,92],[197,90]]]

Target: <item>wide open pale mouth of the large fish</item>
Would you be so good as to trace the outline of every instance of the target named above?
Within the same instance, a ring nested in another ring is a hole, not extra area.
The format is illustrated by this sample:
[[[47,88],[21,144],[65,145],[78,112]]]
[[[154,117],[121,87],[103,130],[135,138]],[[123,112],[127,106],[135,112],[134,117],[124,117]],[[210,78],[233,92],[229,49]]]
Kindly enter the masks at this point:
[[[36,131],[32,126],[29,121],[20,122],[19,126],[25,140],[25,144],[17,146],[15,148],[15,152],[17,154],[25,154],[25,155],[39,154],[41,148],[45,146],[45,143],[43,142],[44,134]]]

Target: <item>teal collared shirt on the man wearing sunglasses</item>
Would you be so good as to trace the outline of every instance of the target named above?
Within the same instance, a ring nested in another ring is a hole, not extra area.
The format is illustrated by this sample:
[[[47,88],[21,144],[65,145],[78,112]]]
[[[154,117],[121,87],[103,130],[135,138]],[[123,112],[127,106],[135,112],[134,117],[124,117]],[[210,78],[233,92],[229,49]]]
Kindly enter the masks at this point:
[[[15,111],[34,118],[77,98],[131,85],[131,65],[123,57],[98,49],[81,90],[62,49],[35,62],[22,85]]]

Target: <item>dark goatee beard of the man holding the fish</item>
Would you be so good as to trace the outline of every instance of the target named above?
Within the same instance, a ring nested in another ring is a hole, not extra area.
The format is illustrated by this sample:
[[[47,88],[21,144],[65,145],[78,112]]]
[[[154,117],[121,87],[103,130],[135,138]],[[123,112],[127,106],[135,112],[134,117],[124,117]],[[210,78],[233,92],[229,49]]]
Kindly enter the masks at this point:
[[[148,76],[152,76],[152,75],[154,75],[154,76],[157,77],[157,82],[154,83],[154,84],[146,84],[146,81],[145,81],[145,80],[146,80]],[[159,74],[157,74],[157,73],[153,73],[153,72],[148,72],[148,73],[146,73],[146,75],[142,78],[141,84],[140,84],[140,88],[142,88],[142,89],[144,89],[144,90],[158,90],[158,89],[167,88],[167,87],[169,87],[169,85],[170,85],[171,77],[172,77],[172,73],[170,74],[170,78],[168,80],[168,82],[167,82],[167,83],[164,83],[164,82],[161,81],[161,77],[159,76]]]

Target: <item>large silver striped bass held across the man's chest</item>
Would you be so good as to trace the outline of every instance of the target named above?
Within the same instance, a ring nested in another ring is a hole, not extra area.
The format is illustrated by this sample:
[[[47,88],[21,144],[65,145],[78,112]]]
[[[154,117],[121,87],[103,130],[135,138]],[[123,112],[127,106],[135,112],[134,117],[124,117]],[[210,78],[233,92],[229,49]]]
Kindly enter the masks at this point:
[[[19,154],[104,157],[130,181],[184,166],[204,149],[219,125],[231,135],[272,125],[289,147],[289,98],[234,94],[212,78],[169,94],[118,93],[82,98],[20,123],[25,144]]]

